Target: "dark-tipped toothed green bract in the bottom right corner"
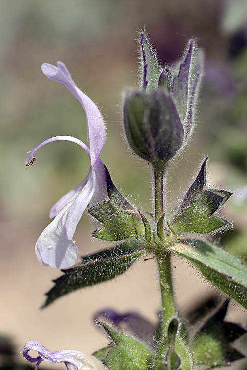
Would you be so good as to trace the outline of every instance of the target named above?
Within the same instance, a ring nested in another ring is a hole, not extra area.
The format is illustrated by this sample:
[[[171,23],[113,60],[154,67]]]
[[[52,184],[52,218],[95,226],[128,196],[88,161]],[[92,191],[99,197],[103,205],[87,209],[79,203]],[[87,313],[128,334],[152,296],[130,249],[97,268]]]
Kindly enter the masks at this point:
[[[246,333],[239,325],[227,323],[224,317],[229,300],[201,327],[191,347],[197,365],[206,365],[207,369],[229,365],[244,356],[231,347],[231,343]]]

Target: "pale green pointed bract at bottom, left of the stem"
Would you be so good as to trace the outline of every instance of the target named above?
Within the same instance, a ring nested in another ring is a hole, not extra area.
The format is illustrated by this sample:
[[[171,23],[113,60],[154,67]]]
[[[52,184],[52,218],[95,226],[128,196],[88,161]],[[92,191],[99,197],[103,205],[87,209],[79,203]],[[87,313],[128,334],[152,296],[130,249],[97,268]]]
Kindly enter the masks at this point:
[[[110,370],[148,370],[152,353],[138,340],[114,330],[110,325],[98,322],[111,343],[93,353]]]

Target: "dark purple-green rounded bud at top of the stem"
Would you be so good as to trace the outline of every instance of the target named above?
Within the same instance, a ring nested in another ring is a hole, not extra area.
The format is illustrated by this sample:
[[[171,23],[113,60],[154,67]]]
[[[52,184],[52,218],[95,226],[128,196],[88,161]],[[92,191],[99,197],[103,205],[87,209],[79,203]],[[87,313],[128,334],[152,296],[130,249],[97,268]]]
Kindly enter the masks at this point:
[[[171,96],[162,88],[127,94],[124,127],[130,148],[153,165],[165,164],[183,144],[183,125]]]

